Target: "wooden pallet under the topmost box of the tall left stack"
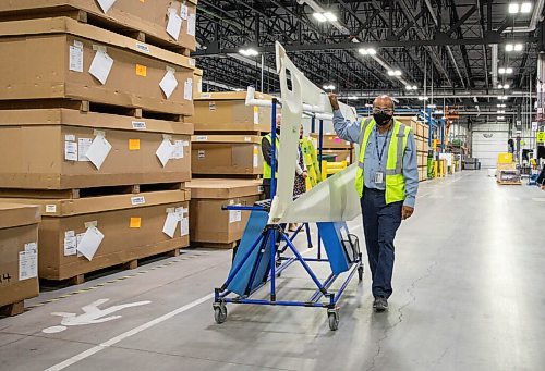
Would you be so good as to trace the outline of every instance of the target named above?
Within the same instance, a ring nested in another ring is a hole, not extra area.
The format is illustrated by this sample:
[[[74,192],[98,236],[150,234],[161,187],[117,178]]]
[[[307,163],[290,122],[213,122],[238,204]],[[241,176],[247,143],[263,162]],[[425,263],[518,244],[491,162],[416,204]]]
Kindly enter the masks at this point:
[[[40,8],[40,9],[29,9],[24,11],[15,11],[10,13],[4,13],[1,15],[2,21],[23,21],[23,20],[35,20],[35,18],[48,18],[48,17],[59,17],[66,16],[76,20],[81,23],[89,24],[92,26],[100,27],[102,29],[110,30],[112,33],[123,35],[133,38],[137,41],[149,44],[152,46],[166,49],[185,57],[190,57],[191,50],[184,48],[174,41],[168,41],[161,39],[157,36],[147,34],[145,32],[138,30],[136,28],[130,27],[128,25],[118,24],[108,17],[98,16],[96,14],[89,13],[84,10],[80,10],[70,5]]]

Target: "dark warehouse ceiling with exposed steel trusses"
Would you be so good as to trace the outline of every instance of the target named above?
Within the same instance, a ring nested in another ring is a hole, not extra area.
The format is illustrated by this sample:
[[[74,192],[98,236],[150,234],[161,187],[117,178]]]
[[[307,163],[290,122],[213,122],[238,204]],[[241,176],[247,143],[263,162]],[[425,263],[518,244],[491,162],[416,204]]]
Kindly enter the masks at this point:
[[[278,92],[274,45],[280,41],[316,85],[334,85],[347,98],[390,94],[414,104],[433,96],[449,104],[496,107],[497,97],[508,95],[521,103],[531,85],[535,90],[544,1],[517,14],[509,13],[511,2],[199,0],[195,58],[209,91],[253,85]],[[337,21],[315,18],[325,12]],[[508,44],[522,44],[522,50],[508,52]],[[247,48],[259,54],[242,55]],[[512,73],[500,74],[504,67]],[[508,89],[498,88],[506,84]]]

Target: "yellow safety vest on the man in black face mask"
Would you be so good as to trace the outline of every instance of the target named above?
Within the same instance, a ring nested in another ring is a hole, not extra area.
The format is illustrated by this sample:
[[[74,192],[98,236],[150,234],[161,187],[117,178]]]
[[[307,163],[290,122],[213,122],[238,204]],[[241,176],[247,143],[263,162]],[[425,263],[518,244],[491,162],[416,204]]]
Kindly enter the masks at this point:
[[[374,119],[362,121],[360,134],[360,160],[355,176],[355,188],[360,197],[363,196],[364,180],[363,169],[365,164],[365,149],[375,128]],[[403,153],[407,148],[411,127],[399,121],[393,121],[390,146],[388,147],[388,161],[386,163],[386,203],[403,201],[405,199],[405,180],[403,177]]]

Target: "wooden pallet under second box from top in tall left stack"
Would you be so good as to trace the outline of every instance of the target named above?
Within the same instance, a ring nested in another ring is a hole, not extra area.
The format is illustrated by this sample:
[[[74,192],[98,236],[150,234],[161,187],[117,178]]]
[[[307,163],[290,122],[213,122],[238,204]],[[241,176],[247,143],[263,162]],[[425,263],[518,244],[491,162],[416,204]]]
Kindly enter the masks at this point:
[[[83,113],[107,113],[129,116],[134,119],[155,119],[172,122],[183,122],[183,115],[148,111],[142,108],[131,108],[114,104],[96,103],[81,99],[33,99],[33,100],[2,100],[0,110],[33,110],[64,108],[78,110]]]

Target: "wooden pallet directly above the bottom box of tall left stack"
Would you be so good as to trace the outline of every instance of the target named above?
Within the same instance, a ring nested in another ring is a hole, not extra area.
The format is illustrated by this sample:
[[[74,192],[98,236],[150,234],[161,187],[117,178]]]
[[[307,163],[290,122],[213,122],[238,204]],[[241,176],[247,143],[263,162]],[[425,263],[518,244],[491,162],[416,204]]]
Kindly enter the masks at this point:
[[[71,189],[0,188],[0,198],[78,199],[98,196],[131,195],[147,191],[185,189],[185,183],[133,184]]]

